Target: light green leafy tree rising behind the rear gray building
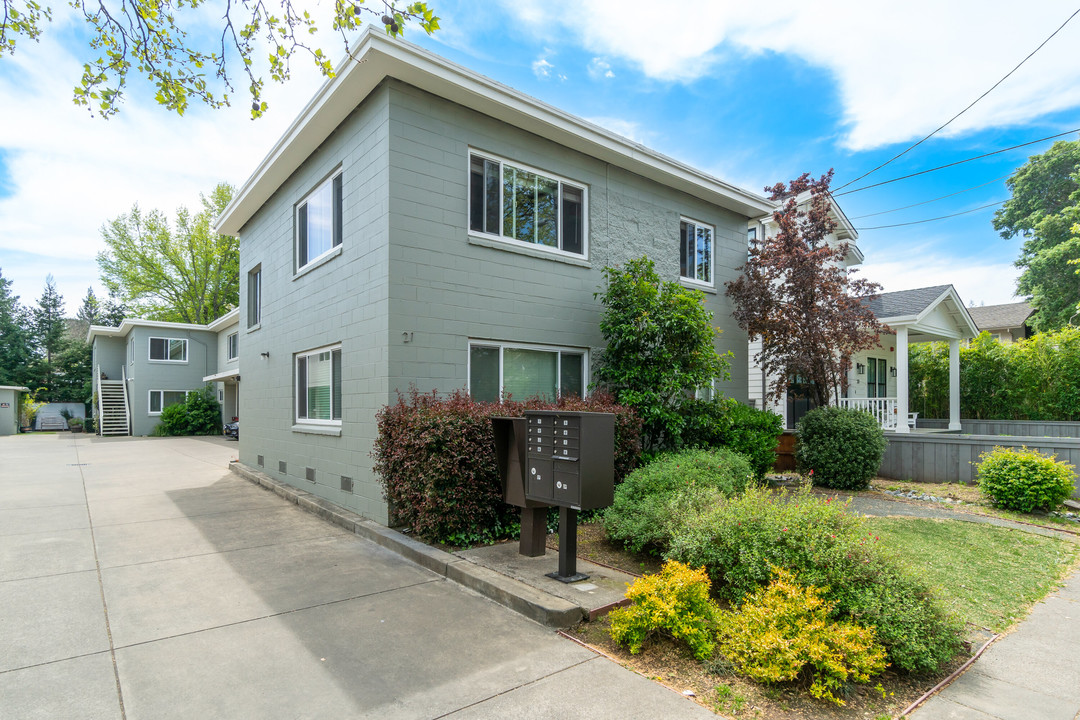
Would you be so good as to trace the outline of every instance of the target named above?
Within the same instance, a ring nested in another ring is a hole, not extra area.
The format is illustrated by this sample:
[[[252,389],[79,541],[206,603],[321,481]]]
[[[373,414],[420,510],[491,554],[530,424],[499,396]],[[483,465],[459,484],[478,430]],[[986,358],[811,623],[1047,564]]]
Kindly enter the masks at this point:
[[[160,210],[138,205],[106,223],[97,266],[110,293],[146,320],[204,325],[235,308],[240,243],[213,230],[232,193],[232,186],[218,184],[200,195],[200,212],[180,207],[172,225]]]

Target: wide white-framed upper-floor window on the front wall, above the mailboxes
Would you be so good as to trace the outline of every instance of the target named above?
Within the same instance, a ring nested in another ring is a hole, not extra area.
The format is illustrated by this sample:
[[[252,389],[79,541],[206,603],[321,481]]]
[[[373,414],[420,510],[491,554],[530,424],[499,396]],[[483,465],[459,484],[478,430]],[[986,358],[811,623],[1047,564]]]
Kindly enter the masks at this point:
[[[588,198],[584,186],[491,155],[469,155],[473,232],[584,255]]]

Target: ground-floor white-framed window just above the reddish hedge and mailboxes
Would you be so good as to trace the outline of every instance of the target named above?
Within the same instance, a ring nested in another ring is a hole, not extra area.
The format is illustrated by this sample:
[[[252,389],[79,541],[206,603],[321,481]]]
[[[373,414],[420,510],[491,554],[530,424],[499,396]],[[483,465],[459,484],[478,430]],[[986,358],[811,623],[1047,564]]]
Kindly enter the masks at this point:
[[[578,395],[589,386],[588,351],[546,345],[515,345],[475,340],[469,343],[469,394],[497,403]]]

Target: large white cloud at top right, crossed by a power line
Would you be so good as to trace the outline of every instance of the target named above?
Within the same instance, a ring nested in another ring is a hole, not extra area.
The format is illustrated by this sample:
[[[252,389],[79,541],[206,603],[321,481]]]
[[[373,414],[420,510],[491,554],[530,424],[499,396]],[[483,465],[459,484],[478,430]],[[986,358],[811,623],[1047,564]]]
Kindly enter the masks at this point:
[[[546,32],[636,65],[649,78],[691,82],[732,55],[773,52],[831,72],[847,133],[864,150],[920,137],[960,111],[1076,10],[1071,0],[913,0],[878,3],[691,3],[503,0]],[[643,22],[648,18],[650,22]],[[953,123],[944,135],[1023,123],[1080,105],[1080,19]],[[768,98],[768,87],[762,96]],[[773,98],[779,108],[783,98]]]

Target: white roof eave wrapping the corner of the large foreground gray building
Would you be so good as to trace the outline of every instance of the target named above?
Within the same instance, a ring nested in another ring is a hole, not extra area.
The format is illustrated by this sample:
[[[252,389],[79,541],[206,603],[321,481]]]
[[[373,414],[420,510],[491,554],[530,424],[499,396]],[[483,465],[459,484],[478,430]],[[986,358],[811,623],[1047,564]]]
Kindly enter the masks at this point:
[[[366,30],[337,77],[315,93],[255,173],[225,208],[215,232],[241,229],[300,164],[386,78],[419,87],[561,146],[617,165],[694,198],[751,218],[773,204],[643,145],[456,65],[418,45]]]

